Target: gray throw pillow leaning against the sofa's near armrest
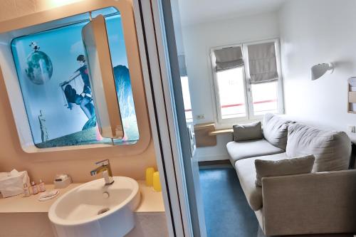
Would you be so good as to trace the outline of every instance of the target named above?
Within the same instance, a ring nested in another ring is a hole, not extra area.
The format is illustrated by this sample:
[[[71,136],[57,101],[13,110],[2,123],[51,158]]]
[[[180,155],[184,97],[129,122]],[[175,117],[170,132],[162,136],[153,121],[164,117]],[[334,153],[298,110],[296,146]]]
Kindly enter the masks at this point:
[[[314,160],[313,154],[279,160],[256,159],[256,186],[262,186],[263,177],[310,173],[313,169]]]

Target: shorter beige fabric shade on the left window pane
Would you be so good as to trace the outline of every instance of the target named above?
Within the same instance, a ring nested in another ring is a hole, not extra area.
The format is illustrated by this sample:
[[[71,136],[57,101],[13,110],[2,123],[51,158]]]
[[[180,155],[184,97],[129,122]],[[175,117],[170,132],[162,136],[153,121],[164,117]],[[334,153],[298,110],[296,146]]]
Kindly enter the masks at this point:
[[[221,48],[214,51],[216,72],[244,65],[241,47]]]

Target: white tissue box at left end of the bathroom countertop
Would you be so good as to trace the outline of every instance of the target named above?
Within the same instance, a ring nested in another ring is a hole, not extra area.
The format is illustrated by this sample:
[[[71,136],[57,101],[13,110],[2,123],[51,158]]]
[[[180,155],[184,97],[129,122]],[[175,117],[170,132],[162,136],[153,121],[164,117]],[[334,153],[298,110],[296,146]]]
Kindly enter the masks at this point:
[[[16,169],[9,173],[0,172],[0,192],[4,198],[23,194],[23,184],[29,185],[30,179],[26,171]]]

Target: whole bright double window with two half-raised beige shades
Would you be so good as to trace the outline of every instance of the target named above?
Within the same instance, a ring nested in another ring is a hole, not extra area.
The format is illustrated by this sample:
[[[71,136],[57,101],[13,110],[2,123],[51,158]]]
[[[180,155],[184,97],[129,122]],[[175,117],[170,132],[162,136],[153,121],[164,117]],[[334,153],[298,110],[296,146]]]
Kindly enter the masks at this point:
[[[278,40],[211,51],[219,123],[283,112]]]

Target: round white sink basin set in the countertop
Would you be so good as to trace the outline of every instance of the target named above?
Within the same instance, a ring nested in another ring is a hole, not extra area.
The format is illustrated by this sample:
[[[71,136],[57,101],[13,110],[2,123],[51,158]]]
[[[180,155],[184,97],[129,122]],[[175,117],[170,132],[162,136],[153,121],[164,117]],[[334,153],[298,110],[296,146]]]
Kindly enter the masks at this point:
[[[120,237],[135,226],[133,211],[140,203],[137,181],[113,177],[82,184],[56,200],[48,211],[58,237]]]

